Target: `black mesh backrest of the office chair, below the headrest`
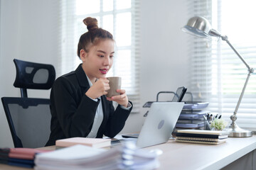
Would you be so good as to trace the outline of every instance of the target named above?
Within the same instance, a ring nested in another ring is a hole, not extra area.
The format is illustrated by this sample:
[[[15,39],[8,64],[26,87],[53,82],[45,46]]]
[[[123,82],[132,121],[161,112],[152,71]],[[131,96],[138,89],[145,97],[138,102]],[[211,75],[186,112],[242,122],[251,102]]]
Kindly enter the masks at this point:
[[[14,147],[44,147],[50,136],[50,100],[3,97]]]

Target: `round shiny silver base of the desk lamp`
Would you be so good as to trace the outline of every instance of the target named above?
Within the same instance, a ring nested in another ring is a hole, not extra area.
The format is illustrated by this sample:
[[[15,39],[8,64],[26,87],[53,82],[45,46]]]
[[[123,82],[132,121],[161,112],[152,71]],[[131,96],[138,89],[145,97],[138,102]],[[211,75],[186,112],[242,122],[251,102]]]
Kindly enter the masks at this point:
[[[251,137],[252,131],[250,130],[244,130],[242,128],[239,128],[238,125],[230,125],[228,129],[226,129],[229,134],[228,137]]]

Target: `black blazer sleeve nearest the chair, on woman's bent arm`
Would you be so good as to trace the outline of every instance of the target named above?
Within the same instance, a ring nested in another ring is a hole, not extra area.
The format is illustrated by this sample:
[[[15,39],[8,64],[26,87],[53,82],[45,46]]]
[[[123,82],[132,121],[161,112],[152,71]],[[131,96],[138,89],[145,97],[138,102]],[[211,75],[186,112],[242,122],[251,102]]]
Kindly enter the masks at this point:
[[[77,91],[73,83],[65,78],[55,81],[50,100],[65,137],[86,137],[95,118],[100,101],[93,101]]]

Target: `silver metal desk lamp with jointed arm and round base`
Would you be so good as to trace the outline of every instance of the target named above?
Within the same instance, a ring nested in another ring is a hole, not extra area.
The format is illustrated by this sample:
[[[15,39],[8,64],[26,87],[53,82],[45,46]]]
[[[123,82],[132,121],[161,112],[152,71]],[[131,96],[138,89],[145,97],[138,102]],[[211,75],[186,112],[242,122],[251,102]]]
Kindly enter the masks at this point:
[[[228,127],[229,137],[251,137],[252,132],[250,130],[243,130],[242,128],[239,128],[238,125],[235,123],[235,120],[237,120],[237,112],[239,105],[242,100],[242,96],[245,92],[245,88],[247,86],[247,82],[250,78],[250,74],[254,72],[254,69],[249,67],[249,65],[245,62],[245,60],[240,56],[240,54],[235,50],[233,45],[230,44],[228,41],[228,37],[226,35],[221,35],[217,30],[213,30],[210,26],[209,21],[206,20],[206,18],[200,17],[200,16],[194,16],[188,20],[188,23],[186,26],[181,28],[186,33],[190,33],[192,35],[196,35],[201,38],[210,38],[210,37],[216,37],[221,38],[225,42],[228,43],[228,45],[232,48],[232,50],[235,52],[236,55],[242,60],[242,62],[245,64],[245,66],[248,69],[247,79],[245,81],[245,85],[242,88],[242,93],[240,94],[237,106],[235,107],[235,111],[233,115],[230,116],[230,119],[232,120],[231,125]]]

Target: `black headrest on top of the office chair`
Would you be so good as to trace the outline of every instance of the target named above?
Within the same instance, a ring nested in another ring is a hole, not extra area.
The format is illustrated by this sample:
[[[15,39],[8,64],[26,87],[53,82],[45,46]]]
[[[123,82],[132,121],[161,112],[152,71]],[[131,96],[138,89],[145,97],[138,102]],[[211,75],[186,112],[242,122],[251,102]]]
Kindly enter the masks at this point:
[[[55,81],[55,69],[51,64],[39,64],[14,59],[16,79],[14,86],[24,89],[50,89]]]

